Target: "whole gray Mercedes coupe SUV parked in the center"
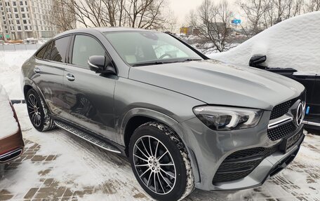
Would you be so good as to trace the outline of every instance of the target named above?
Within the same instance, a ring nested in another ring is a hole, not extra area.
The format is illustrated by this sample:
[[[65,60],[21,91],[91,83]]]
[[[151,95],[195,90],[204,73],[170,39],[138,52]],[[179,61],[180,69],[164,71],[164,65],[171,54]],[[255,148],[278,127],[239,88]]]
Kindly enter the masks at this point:
[[[304,138],[300,83],[209,60],[170,34],[72,30],[44,44],[22,74],[37,130],[60,127],[126,155],[157,200],[260,186]]]

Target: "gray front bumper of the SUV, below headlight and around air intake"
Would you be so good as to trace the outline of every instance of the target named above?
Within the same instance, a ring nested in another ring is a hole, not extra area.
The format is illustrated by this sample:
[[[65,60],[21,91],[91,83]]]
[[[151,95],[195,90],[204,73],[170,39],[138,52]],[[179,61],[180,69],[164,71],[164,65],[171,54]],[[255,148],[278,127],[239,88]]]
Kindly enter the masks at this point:
[[[299,139],[296,139],[295,144],[284,153],[280,148],[283,139],[272,141],[267,137],[270,113],[265,111],[259,125],[246,130],[217,132],[210,130],[198,118],[181,123],[185,133],[182,139],[187,144],[192,160],[196,188],[202,190],[239,190],[260,186],[266,179],[279,172],[293,160],[304,139],[302,125],[290,135],[301,133]],[[241,179],[233,179],[235,177],[232,173],[230,173],[231,179],[227,181],[220,182],[215,178],[222,162],[229,155],[254,148],[271,149],[272,152],[258,161],[255,168]]]

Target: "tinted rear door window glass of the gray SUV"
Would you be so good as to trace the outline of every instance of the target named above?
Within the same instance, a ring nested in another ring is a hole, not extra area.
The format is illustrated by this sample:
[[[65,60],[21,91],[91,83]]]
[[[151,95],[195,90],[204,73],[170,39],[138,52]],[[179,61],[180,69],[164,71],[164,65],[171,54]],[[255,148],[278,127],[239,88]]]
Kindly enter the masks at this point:
[[[69,46],[69,36],[53,41],[51,48],[51,59],[55,62],[65,62],[65,53]]]

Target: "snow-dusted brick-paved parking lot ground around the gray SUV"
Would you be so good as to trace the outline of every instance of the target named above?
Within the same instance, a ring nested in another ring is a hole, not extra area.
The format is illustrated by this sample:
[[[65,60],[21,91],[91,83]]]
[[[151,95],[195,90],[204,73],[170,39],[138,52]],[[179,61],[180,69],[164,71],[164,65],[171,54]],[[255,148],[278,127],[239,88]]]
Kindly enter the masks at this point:
[[[59,129],[37,132],[25,104],[14,106],[26,148],[6,166],[0,200],[152,200],[125,158]],[[297,158],[263,186],[234,192],[195,190],[185,200],[320,200],[320,136],[307,134]]]

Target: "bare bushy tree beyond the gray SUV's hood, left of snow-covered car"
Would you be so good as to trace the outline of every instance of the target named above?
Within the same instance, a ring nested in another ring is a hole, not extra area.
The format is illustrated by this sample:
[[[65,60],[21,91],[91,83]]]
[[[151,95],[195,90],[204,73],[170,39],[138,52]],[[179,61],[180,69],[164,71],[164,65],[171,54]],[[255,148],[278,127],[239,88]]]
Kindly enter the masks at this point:
[[[217,50],[223,52],[228,50],[227,39],[231,34],[232,12],[227,1],[214,4],[213,0],[204,0],[197,8],[196,13],[192,11],[189,15],[189,23],[199,29],[202,49]]]

